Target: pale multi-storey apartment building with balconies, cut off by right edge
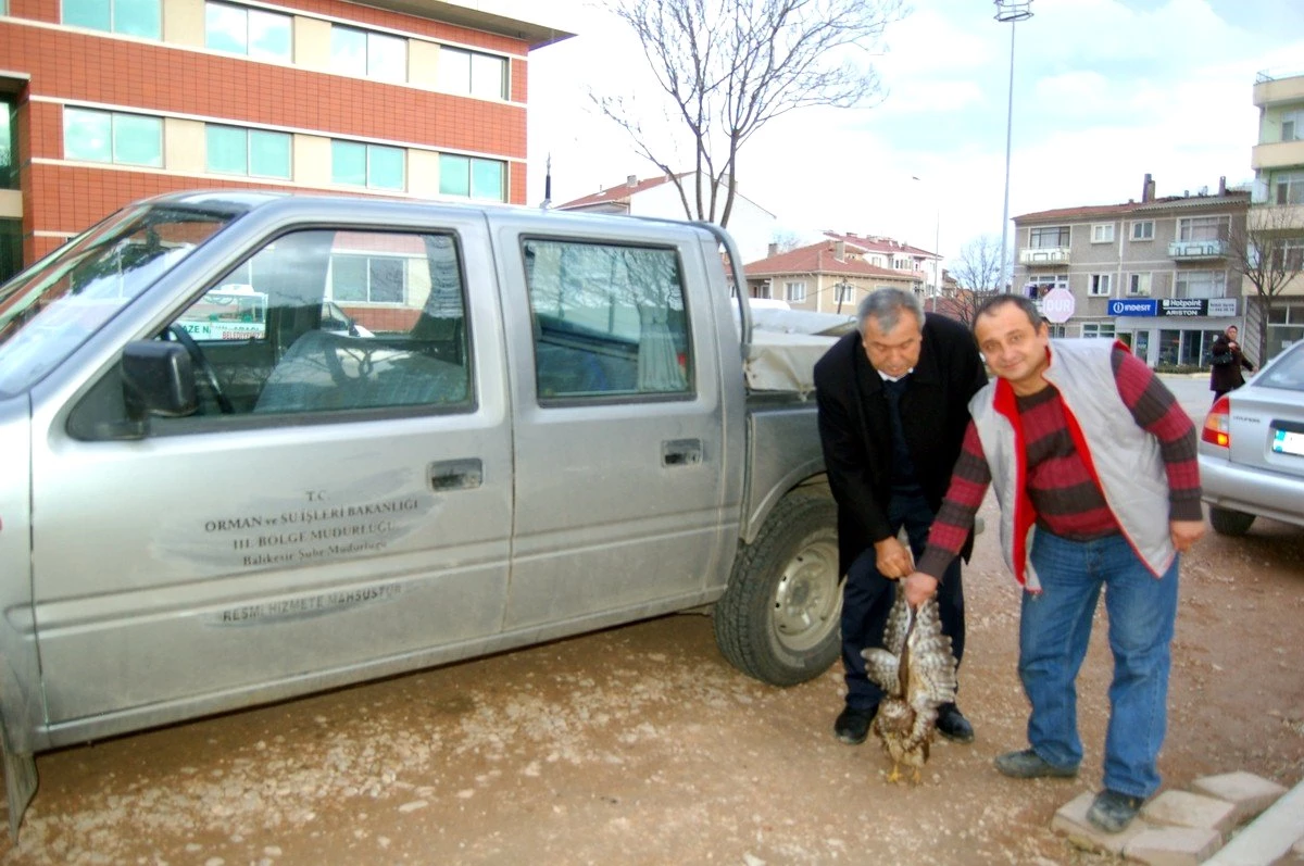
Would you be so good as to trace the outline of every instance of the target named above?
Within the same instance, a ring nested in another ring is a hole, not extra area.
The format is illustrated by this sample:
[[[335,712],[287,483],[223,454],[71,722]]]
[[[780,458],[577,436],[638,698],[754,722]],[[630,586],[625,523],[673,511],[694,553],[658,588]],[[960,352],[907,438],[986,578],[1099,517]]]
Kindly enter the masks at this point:
[[[1271,357],[1304,339],[1304,73],[1260,73],[1253,99],[1258,143],[1251,154],[1254,189],[1249,227],[1279,262],[1269,271],[1277,270],[1282,280],[1267,316],[1266,350],[1254,357]],[[1245,291],[1253,293],[1254,288],[1247,286]],[[1251,308],[1251,317],[1247,336],[1257,340],[1257,308]]]

